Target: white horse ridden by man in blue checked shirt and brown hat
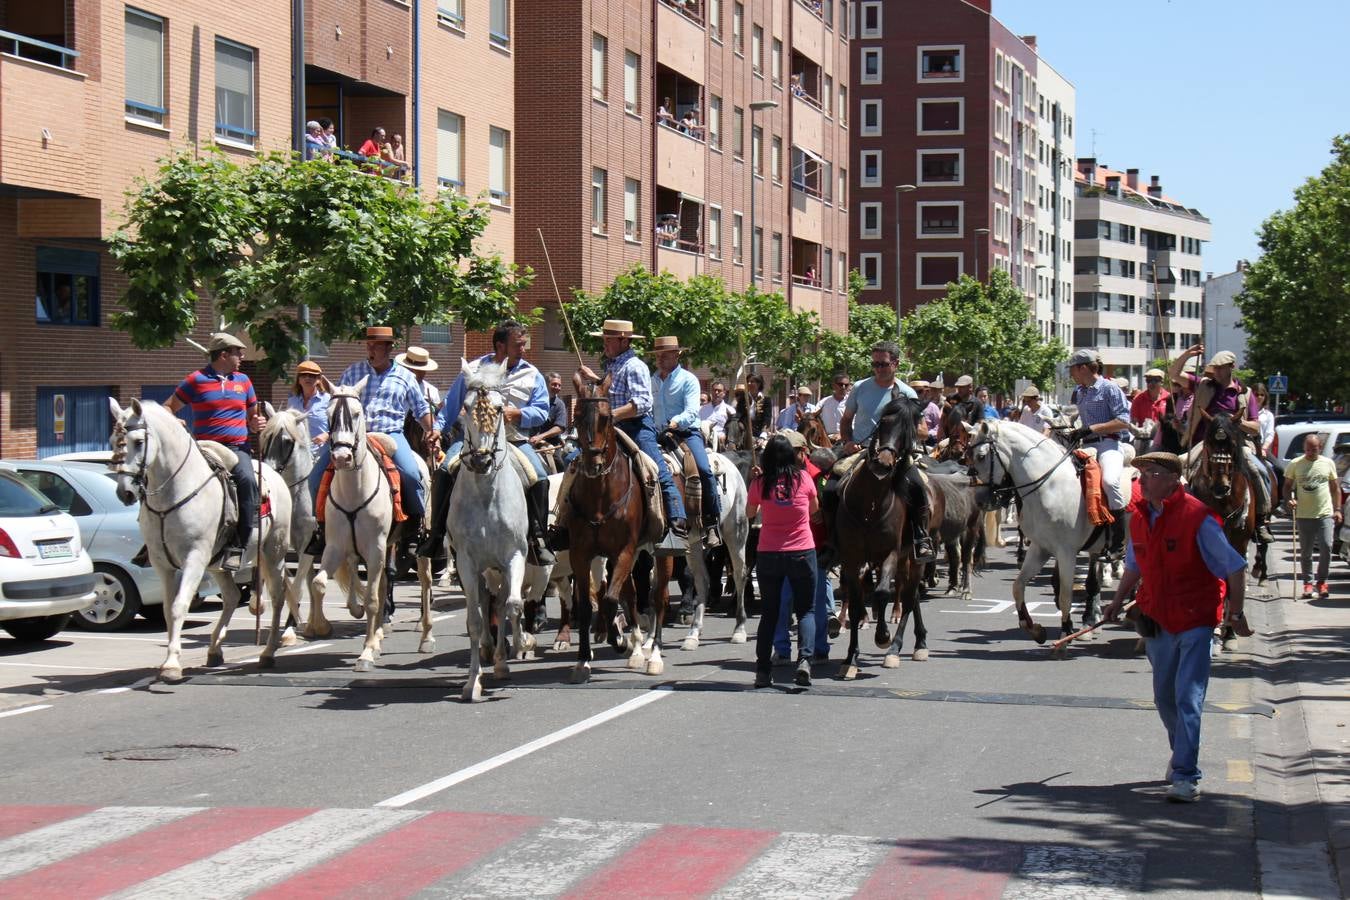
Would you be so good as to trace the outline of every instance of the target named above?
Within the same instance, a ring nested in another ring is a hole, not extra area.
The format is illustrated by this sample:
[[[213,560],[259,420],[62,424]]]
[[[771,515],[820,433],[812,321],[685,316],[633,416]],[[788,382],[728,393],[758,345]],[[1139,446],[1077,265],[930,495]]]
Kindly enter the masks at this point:
[[[366,617],[366,642],[354,669],[370,672],[383,642],[385,591],[389,573],[389,533],[394,525],[394,499],[385,471],[366,443],[366,416],[360,391],[366,379],[333,387],[328,401],[328,445],[333,478],[324,515],[324,557],[310,591],[323,606],[328,579],[338,576],[347,594],[347,609]],[[356,567],[366,564],[366,586],[358,584]]]

